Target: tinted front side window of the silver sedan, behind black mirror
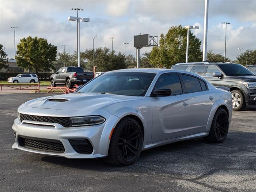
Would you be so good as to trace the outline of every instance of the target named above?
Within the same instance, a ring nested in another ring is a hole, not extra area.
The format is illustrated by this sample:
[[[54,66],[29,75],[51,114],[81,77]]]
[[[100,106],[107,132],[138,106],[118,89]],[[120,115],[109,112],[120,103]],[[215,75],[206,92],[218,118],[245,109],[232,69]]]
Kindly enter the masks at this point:
[[[179,76],[177,74],[166,74],[161,76],[156,83],[155,89],[162,88],[171,89],[172,95],[182,93]]]

